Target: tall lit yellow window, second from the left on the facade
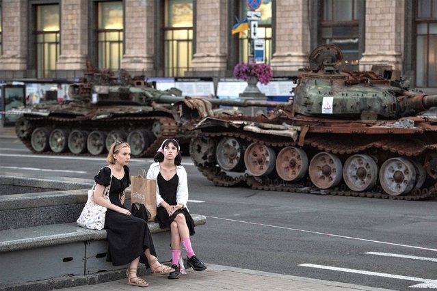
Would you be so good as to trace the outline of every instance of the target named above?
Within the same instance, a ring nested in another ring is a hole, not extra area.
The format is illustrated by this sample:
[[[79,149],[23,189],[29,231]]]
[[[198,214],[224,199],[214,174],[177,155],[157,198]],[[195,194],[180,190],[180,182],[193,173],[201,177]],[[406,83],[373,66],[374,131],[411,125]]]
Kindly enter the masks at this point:
[[[111,70],[120,68],[123,55],[123,2],[97,3],[98,67]]]

